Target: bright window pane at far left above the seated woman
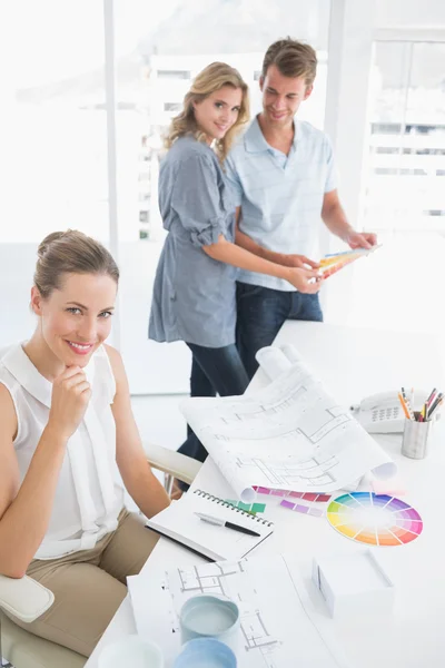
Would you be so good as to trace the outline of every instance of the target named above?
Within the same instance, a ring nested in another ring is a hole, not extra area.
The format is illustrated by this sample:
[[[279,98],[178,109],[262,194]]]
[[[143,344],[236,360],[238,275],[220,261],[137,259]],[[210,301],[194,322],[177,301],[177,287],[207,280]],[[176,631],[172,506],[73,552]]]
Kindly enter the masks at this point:
[[[17,0],[0,24],[1,347],[32,331],[38,243],[68,227],[107,243],[109,222],[100,3]]]

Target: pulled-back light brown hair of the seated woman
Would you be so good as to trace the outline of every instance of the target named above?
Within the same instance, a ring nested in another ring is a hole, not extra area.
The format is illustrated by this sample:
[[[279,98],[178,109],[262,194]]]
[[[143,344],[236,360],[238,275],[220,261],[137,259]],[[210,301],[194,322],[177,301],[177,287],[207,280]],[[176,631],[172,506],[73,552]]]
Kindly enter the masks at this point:
[[[65,274],[106,274],[119,282],[118,266],[107,248],[77,229],[49,234],[37,255],[34,285],[43,298],[60,289]]]

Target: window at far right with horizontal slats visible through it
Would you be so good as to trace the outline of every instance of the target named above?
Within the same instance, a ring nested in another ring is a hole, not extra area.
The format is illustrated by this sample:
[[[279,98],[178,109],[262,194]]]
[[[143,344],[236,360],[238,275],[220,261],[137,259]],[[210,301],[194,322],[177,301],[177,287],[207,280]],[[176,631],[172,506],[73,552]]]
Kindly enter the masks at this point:
[[[445,168],[445,43],[375,43],[364,225],[438,230]]]

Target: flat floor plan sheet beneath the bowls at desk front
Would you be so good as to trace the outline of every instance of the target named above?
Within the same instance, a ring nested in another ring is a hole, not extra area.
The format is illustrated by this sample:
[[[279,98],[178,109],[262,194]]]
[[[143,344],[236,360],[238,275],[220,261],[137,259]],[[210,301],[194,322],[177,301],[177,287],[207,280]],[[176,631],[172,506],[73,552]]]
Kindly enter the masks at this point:
[[[206,563],[127,579],[138,633],[156,639],[170,668],[180,651],[178,615],[199,593],[240,607],[238,668],[346,668],[330,625],[316,619],[295,556]]]

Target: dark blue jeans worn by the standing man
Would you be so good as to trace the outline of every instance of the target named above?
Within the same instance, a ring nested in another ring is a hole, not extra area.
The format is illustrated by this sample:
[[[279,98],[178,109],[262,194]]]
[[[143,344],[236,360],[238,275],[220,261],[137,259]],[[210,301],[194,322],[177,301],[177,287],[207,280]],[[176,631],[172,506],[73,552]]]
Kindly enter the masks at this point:
[[[237,283],[237,345],[249,379],[258,369],[256,353],[273,343],[287,320],[322,322],[318,295]]]

